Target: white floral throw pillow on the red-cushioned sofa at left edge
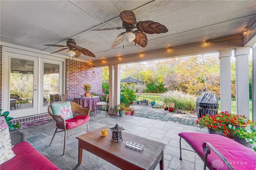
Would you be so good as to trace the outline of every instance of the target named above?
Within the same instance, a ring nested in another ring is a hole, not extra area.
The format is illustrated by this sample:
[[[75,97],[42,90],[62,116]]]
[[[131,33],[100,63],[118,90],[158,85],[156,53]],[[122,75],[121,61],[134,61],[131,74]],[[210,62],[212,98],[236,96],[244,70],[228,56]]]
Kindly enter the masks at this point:
[[[9,126],[4,116],[0,117],[0,164],[12,159],[15,154],[11,148]]]

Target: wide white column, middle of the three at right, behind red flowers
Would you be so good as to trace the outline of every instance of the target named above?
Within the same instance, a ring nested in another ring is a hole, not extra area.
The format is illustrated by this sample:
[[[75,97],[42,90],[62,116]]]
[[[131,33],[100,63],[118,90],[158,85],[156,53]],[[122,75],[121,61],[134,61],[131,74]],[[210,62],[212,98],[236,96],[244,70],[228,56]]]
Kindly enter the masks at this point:
[[[250,47],[236,48],[236,114],[249,118],[248,54],[250,54]]]

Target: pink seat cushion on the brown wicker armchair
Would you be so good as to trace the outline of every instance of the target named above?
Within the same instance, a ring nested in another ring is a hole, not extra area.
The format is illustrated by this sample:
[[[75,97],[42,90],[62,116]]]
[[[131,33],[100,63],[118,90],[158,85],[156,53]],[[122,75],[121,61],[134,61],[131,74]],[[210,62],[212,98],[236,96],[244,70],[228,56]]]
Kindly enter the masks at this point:
[[[82,124],[85,124],[90,120],[90,116],[75,116],[74,118],[66,120],[66,128],[67,129],[73,129],[77,126],[80,126]]]

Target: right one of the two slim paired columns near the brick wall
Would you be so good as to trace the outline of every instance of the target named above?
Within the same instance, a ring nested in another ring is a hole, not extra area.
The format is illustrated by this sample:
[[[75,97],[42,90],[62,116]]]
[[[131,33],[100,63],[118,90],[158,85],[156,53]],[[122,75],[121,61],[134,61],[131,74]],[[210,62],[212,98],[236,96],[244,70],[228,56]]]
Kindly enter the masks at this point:
[[[114,64],[114,106],[120,104],[120,65]],[[113,110],[113,114],[117,115],[116,110]]]

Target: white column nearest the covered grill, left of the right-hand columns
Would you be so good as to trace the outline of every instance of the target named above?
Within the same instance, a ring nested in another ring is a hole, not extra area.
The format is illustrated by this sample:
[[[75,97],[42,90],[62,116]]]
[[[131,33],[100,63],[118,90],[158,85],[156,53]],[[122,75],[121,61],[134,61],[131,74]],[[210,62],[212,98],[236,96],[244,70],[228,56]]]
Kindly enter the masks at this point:
[[[231,49],[220,50],[220,109],[232,112],[231,108]]]

